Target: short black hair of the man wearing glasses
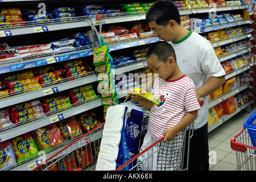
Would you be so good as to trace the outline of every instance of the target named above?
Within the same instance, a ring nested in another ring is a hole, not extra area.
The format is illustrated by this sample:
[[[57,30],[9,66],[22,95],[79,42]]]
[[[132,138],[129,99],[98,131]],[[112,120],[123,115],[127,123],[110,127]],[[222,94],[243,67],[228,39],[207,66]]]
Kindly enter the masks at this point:
[[[146,20],[147,22],[155,20],[156,24],[159,25],[164,25],[169,20],[175,20],[175,22],[180,24],[180,13],[174,2],[158,0],[148,9]]]

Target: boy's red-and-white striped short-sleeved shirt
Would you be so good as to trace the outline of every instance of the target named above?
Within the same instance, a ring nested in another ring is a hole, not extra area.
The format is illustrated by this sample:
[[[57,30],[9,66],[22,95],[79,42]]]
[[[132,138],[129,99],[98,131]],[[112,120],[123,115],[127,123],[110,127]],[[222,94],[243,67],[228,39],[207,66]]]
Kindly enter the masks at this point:
[[[179,123],[185,113],[201,108],[195,84],[186,75],[176,80],[157,78],[151,94],[161,99],[160,105],[152,106],[148,121],[148,132],[155,138],[163,137],[164,130]]]

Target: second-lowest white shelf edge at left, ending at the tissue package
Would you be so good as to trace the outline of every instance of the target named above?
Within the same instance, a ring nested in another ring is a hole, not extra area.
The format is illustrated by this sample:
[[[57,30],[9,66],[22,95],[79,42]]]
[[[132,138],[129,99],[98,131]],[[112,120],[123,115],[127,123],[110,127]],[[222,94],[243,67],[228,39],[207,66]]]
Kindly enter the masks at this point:
[[[52,114],[47,117],[38,119],[36,121],[24,123],[23,125],[16,126],[12,129],[2,131],[0,133],[0,142],[17,137],[19,135],[28,133],[36,129],[39,129],[40,127],[50,125],[51,123],[63,120],[65,118],[72,117],[73,115],[80,114],[82,112],[88,111],[90,109],[96,108],[101,105],[102,105],[102,99],[98,97],[96,100],[87,102],[85,104],[81,103],[80,105],[77,105],[75,107],[69,107],[69,109],[60,111],[59,113]]]

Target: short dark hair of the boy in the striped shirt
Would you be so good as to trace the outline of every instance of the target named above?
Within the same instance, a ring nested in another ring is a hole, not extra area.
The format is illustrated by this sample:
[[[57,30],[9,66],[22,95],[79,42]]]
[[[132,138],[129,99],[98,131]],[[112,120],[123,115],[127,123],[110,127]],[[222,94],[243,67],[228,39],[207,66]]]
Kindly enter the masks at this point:
[[[156,55],[158,60],[163,61],[164,63],[166,63],[169,57],[174,57],[176,62],[176,54],[174,48],[167,42],[160,41],[152,44],[147,50],[146,58],[150,57],[151,55]]]

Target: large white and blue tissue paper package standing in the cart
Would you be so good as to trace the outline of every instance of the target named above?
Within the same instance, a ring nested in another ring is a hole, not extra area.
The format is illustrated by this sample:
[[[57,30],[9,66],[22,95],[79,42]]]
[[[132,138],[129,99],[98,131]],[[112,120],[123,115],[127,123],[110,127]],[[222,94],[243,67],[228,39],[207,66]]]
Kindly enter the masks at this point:
[[[115,170],[138,154],[142,121],[143,110],[131,102],[108,107],[97,171]],[[126,169],[133,165],[129,164]]]

